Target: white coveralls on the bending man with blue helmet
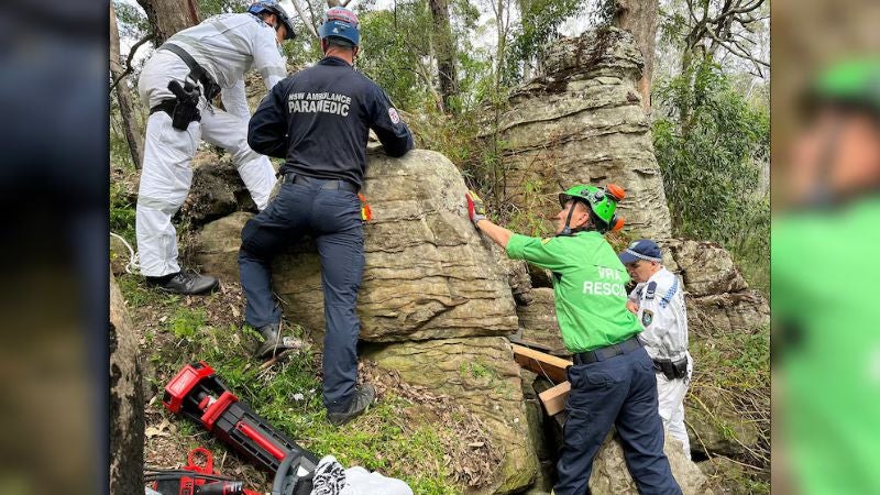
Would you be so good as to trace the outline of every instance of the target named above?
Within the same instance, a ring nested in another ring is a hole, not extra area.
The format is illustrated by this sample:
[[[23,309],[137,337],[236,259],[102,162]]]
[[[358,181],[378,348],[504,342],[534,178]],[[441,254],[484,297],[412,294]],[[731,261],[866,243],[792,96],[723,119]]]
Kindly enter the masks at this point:
[[[186,131],[172,128],[172,118],[164,111],[152,113],[146,122],[135,218],[141,273],[153,277],[180,271],[172,216],[189,193],[190,163],[201,139],[232,155],[257,208],[266,207],[275,170],[268,157],[248,145],[251,112],[244,94],[244,74],[260,70],[267,89],[287,76],[275,30],[250,13],[215,15],[180,31],[168,42],[184,48],[222,88],[221,98],[228,111],[209,106],[202,88],[201,121],[190,122]],[[157,50],[138,81],[141,99],[150,108],[174,99],[168,82],[176,79],[183,86],[189,72],[176,54]]]

